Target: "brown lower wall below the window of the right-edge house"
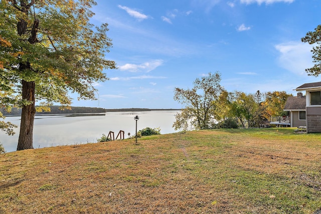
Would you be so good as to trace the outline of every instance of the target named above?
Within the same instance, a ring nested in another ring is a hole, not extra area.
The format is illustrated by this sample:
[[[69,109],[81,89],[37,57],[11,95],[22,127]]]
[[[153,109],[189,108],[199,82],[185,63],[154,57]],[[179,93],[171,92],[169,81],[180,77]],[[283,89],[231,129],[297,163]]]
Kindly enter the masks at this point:
[[[306,107],[306,131],[321,132],[321,108],[320,107]]]

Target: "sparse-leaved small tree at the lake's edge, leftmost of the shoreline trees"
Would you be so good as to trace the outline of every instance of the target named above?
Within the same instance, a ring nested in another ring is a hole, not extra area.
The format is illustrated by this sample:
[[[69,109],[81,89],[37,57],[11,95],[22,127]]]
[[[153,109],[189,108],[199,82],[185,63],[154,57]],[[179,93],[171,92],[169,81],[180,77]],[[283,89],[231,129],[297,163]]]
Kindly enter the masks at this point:
[[[223,91],[220,81],[221,75],[218,72],[209,73],[206,77],[197,78],[193,89],[175,88],[174,100],[185,105],[182,112],[175,116],[175,130],[208,129],[214,126],[217,107],[215,101]]]

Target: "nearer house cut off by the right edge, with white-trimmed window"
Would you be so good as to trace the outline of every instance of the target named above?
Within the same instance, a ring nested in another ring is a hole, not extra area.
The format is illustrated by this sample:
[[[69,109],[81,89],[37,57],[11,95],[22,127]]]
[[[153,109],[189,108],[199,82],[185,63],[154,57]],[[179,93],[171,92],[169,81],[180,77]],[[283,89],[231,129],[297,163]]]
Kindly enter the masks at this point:
[[[306,132],[321,132],[321,82],[305,83],[295,90],[305,91]]]

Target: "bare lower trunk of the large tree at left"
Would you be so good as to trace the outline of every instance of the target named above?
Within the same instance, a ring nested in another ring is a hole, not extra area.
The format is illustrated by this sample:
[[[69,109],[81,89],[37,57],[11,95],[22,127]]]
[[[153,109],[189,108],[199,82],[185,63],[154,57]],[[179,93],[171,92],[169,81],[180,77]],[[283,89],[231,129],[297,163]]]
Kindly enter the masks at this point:
[[[32,101],[23,106],[21,113],[20,133],[17,150],[33,149],[33,131],[35,120],[35,82],[22,81],[22,98]]]

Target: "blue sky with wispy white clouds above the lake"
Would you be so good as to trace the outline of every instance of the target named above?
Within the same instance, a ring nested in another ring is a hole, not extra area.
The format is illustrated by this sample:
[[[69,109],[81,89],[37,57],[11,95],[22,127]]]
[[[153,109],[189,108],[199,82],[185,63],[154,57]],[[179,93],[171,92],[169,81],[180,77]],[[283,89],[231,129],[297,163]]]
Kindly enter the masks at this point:
[[[312,45],[301,38],[321,25],[319,0],[96,0],[95,25],[108,23],[117,69],[96,84],[95,101],[72,106],[182,108],[175,88],[221,74],[229,92],[286,91],[319,82],[308,76]]]

